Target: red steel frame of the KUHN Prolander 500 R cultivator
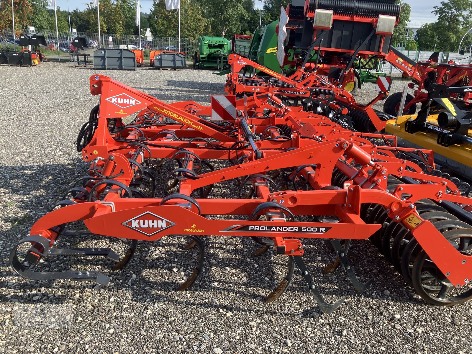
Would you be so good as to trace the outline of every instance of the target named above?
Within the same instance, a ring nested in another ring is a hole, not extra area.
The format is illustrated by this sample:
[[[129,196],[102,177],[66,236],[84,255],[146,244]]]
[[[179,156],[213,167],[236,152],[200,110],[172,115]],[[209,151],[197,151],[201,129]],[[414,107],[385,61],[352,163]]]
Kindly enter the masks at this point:
[[[254,93],[250,98],[238,100],[237,115],[228,123],[232,127],[229,134],[201,117],[211,114],[211,106],[191,101],[167,104],[102,75],[90,78],[90,90],[93,95],[100,95],[96,129],[82,151],[83,159],[92,162],[91,178],[73,201],[64,202],[61,208],[36,221],[29,237],[42,237],[52,247],[60,234],[60,225],[83,220],[94,234],[131,240],[153,241],[183,234],[267,237],[278,253],[302,256],[302,240],[306,238],[367,239],[379,231],[381,224],[366,223],[361,217],[362,205],[374,204],[382,206],[389,219],[411,231],[455,287],[462,287],[471,278],[472,256],[458,252],[430,221],[421,218],[415,204],[428,198],[454,202],[471,211],[471,199],[460,196],[451,181],[426,175],[415,163],[397,158],[398,151],[418,150],[396,147],[395,137],[354,133],[323,116],[287,107],[271,93]],[[264,118],[249,118],[248,112],[261,109],[269,109],[271,113]],[[138,116],[132,123],[122,122],[121,118],[136,112]],[[146,117],[170,118],[176,123],[140,127]],[[110,121],[121,127],[119,133],[110,132]],[[291,136],[280,135],[277,125],[289,126]],[[253,141],[253,134],[268,134],[271,139]],[[172,136],[196,139],[175,141]],[[388,143],[373,144],[372,138]],[[234,146],[239,148],[231,149]],[[176,158],[179,154],[187,174],[181,175],[177,194],[166,198],[123,198],[129,194],[126,186],[135,180],[141,164],[150,159]],[[419,156],[422,162],[434,166],[432,151],[424,150]],[[202,159],[243,163],[190,178]],[[313,190],[271,191],[264,176],[269,171],[294,167],[299,168],[291,172],[293,177],[303,177]],[[108,179],[97,178],[97,169]],[[330,189],[336,173],[346,177],[342,189]],[[199,188],[246,176],[257,199],[191,197]],[[395,190],[388,191],[388,176],[413,178],[419,184],[397,185]],[[106,189],[110,182],[111,187]],[[339,222],[300,222],[285,217],[261,221],[253,217],[256,211],[264,210],[296,216],[336,215]],[[145,213],[167,219],[171,225],[150,235],[126,226]],[[209,219],[210,215],[248,218]],[[32,243],[30,254],[37,261],[47,256],[38,241],[26,239],[24,242]],[[338,304],[326,311],[332,311]]]

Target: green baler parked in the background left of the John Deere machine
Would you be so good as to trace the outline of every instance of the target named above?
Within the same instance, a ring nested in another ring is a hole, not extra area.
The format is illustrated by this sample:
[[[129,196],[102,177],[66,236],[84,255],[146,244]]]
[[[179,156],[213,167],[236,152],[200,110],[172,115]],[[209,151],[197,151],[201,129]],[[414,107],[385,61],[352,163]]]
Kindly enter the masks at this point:
[[[194,69],[222,69],[228,63],[231,50],[229,41],[224,37],[199,37],[198,51],[194,54]]]

